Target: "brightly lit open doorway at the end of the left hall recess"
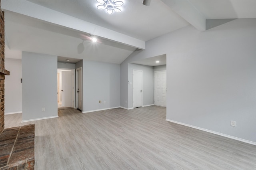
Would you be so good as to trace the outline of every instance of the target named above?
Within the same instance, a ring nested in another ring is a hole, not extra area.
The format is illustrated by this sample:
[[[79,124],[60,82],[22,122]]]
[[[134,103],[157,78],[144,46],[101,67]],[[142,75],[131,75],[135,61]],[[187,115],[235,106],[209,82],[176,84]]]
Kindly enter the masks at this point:
[[[74,69],[58,69],[58,110],[74,108]]]

